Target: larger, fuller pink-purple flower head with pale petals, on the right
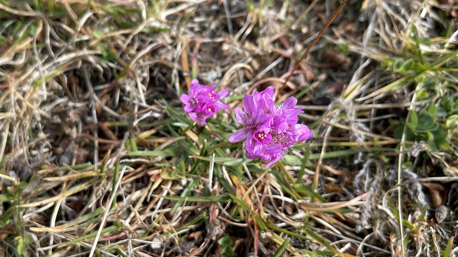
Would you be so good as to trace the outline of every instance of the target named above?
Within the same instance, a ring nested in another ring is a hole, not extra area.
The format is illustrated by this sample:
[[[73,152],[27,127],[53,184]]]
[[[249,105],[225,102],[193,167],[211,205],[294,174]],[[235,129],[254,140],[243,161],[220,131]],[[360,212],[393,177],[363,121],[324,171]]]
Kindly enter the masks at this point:
[[[261,156],[261,161],[269,160],[271,166],[279,159],[288,147],[298,141],[305,141],[313,137],[313,132],[306,125],[297,124],[298,113],[301,108],[294,108],[297,99],[294,96],[274,106],[275,96],[273,86],[262,92],[254,92],[243,98],[242,111],[235,108],[235,118],[244,126],[229,137],[229,142],[238,142],[246,139],[246,157],[255,159]]]

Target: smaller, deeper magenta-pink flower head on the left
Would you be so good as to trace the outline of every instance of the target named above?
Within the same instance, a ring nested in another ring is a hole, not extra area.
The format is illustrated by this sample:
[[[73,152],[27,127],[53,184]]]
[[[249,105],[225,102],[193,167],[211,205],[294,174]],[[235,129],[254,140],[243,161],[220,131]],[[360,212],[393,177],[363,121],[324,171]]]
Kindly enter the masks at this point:
[[[182,94],[180,97],[181,102],[185,104],[184,110],[189,113],[194,121],[200,121],[202,125],[207,124],[205,120],[221,109],[229,108],[229,105],[223,104],[223,99],[229,90],[224,89],[215,93],[212,86],[200,85],[199,81],[193,79],[191,81],[191,91],[189,95]]]

